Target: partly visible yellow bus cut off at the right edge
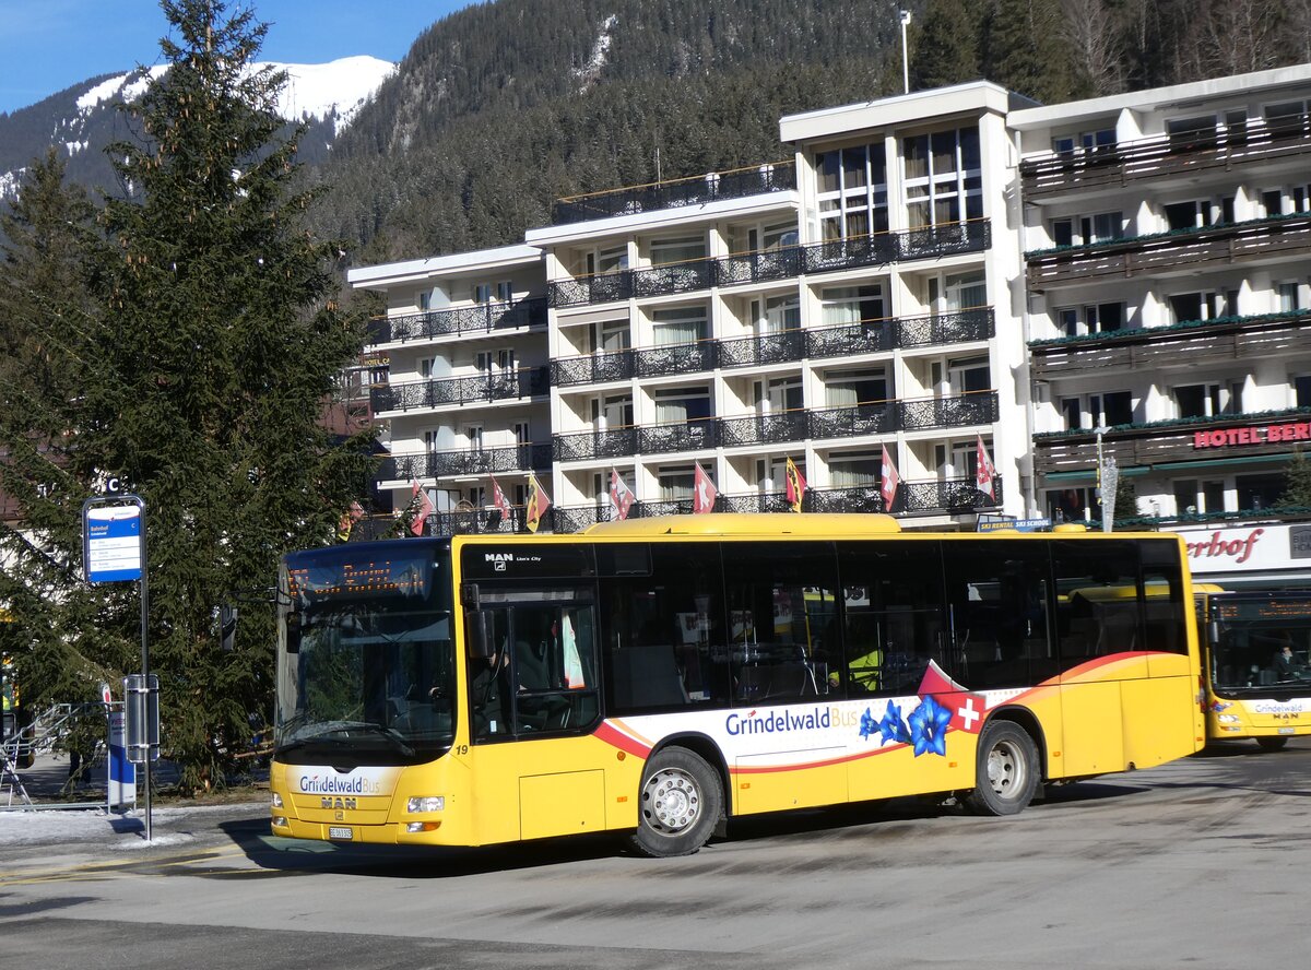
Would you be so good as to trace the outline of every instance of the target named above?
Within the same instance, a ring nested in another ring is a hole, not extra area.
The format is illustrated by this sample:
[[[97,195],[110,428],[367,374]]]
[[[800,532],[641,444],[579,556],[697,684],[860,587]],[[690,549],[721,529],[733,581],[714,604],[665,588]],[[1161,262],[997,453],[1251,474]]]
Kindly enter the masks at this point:
[[[1311,734],[1311,591],[1196,587],[1206,735],[1277,751]]]

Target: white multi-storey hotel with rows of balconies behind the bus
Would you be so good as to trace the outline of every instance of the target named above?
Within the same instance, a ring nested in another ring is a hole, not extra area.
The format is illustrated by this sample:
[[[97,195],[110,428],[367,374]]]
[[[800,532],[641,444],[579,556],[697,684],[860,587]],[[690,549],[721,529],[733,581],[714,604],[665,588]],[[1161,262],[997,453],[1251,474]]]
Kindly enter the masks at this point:
[[[565,199],[524,245],[355,270],[388,301],[380,485],[489,528],[489,476],[522,506],[534,472],[543,527],[577,531],[611,469],[633,515],[691,513],[697,463],[766,511],[791,457],[806,510],[974,528],[1097,518],[1100,439],[1145,516],[1214,548],[1311,422],[1308,98],[1311,66],[915,92],[783,118],[787,161]]]

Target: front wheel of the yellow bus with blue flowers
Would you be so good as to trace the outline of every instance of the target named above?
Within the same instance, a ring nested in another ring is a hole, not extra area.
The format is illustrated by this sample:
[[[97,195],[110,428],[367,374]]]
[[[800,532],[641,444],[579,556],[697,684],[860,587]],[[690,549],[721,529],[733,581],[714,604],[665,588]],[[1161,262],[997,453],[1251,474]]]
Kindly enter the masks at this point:
[[[690,856],[709,840],[722,804],[718,772],[686,747],[667,747],[642,772],[632,845],[652,859]]]

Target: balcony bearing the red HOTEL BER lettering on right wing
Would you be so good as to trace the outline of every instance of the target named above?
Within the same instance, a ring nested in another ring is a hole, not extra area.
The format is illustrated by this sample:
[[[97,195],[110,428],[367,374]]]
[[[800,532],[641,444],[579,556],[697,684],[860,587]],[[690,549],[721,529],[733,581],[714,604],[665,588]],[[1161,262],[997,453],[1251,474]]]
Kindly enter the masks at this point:
[[[1232,442],[1224,443],[1240,444],[1243,456],[1286,455],[1297,440],[1311,442],[1311,408],[1118,425],[1103,434],[1101,452],[1104,457],[1114,457],[1120,468],[1200,461],[1226,454],[1213,451],[1219,443],[1197,447],[1201,434],[1232,436]],[[1295,434],[1307,436],[1298,439]],[[1033,435],[1034,475],[1091,473],[1096,455],[1097,436],[1092,430]]]

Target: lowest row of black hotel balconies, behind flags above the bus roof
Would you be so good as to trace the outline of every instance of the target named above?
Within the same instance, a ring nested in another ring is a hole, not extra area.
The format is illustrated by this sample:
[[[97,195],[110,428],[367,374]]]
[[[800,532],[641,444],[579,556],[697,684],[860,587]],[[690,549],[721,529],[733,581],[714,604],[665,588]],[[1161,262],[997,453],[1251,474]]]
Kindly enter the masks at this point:
[[[877,485],[852,489],[806,489],[801,501],[802,513],[890,513],[893,515],[964,515],[983,509],[1002,506],[1002,480],[994,478],[996,498],[979,492],[973,478],[943,478],[933,481],[902,482],[890,510],[884,507],[884,497]],[[784,492],[745,492],[716,497],[714,511],[738,514],[791,513],[792,503]],[[692,499],[637,501],[628,510],[629,519],[654,515],[691,515]],[[598,522],[610,522],[614,506],[585,505],[549,510],[556,532],[581,532]]]

